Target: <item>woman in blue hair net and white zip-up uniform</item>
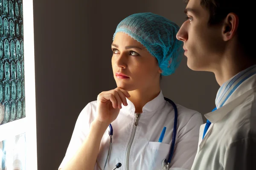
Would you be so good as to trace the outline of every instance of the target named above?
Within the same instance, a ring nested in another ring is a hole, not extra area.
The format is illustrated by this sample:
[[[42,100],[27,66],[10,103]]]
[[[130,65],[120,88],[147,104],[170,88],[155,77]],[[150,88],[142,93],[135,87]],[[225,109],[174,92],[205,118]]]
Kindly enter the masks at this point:
[[[80,113],[59,170],[112,170],[117,163],[122,164],[121,170],[162,168],[172,144],[175,111],[164,99],[160,77],[172,74],[180,63],[183,51],[176,39],[178,29],[152,13],[132,14],[119,23],[111,45],[117,88],[100,93]],[[200,113],[181,105],[177,113],[169,165],[173,170],[190,170],[203,120]],[[109,124],[113,139],[108,156]],[[159,142],[163,127],[166,132]]]

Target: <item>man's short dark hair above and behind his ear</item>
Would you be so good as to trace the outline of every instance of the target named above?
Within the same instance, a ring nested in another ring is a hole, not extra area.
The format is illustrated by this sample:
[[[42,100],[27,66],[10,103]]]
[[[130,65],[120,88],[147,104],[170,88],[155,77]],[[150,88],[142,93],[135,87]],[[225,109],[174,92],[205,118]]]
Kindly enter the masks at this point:
[[[186,3],[189,0],[185,0]],[[254,5],[247,0],[201,0],[201,6],[209,11],[209,26],[221,23],[227,14],[233,12],[239,17],[239,26],[237,29],[238,39],[244,52],[251,55],[255,33],[253,29]],[[250,24],[250,22],[252,24]]]

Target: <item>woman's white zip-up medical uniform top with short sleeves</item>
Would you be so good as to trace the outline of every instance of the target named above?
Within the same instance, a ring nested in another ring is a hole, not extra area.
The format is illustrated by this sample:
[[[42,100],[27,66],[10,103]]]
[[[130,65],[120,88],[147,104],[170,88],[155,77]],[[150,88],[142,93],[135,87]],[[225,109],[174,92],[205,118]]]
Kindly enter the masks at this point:
[[[113,143],[106,170],[112,170],[118,162],[122,164],[122,167],[118,170],[160,170],[163,159],[167,159],[169,156],[172,144],[174,108],[165,101],[161,91],[155,99],[143,107],[143,113],[141,113],[135,130],[135,108],[131,101],[127,100],[127,102],[128,106],[122,105],[117,119],[111,123],[113,126]],[[181,105],[177,105],[177,110],[177,137],[171,167],[190,170],[197,150],[199,128],[203,124],[203,120],[201,114],[197,111]],[[59,169],[64,167],[67,161],[76,153],[76,150],[79,149],[95,116],[96,101],[93,101],[80,113],[66,155]],[[164,126],[166,127],[166,133],[163,142],[160,143],[158,139]],[[102,169],[108,154],[110,138],[108,131],[109,128],[103,135],[97,157]],[[128,147],[130,148],[129,155],[127,155]],[[97,164],[94,169],[99,170]]]

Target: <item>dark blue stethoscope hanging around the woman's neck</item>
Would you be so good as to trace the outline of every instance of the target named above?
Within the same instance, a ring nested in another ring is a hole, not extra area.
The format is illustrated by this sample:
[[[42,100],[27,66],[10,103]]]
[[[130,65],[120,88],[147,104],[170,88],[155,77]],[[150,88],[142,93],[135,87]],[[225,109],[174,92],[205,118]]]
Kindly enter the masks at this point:
[[[174,108],[174,125],[173,125],[173,133],[172,133],[172,145],[171,145],[171,148],[170,148],[170,152],[169,152],[169,156],[168,156],[168,159],[164,159],[163,160],[163,163],[162,163],[162,170],[169,170],[169,166],[170,166],[170,163],[171,163],[171,160],[172,160],[172,156],[173,156],[173,153],[174,153],[174,147],[175,147],[175,140],[176,140],[176,134],[177,134],[177,119],[178,119],[178,111],[177,111],[177,106],[175,105],[175,103],[164,97],[164,99],[171,103],[172,104],[172,107]],[[109,153],[111,151],[111,145],[112,145],[112,136],[113,136],[113,127],[112,125],[108,125],[110,131],[108,132],[109,136],[110,136],[110,139],[109,139],[109,148],[108,148],[108,156],[107,156],[107,159],[105,161],[105,164],[104,164],[104,168],[103,170],[105,170],[105,167],[107,165],[107,162],[108,162],[108,157],[109,157]],[[116,167],[113,168],[113,170],[116,170],[117,168],[121,167],[122,164],[119,162],[118,164],[116,164]]]

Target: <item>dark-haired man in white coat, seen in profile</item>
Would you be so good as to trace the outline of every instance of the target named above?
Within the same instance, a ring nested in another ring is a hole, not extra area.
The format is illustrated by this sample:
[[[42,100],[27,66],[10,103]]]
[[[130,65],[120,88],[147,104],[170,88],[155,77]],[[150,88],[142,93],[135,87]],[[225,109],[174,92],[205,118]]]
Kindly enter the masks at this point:
[[[256,58],[249,0],[188,0],[177,33],[187,65],[211,71],[221,86],[205,114],[192,170],[255,170]]]

